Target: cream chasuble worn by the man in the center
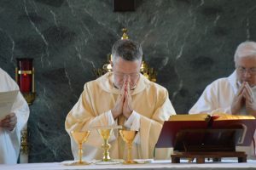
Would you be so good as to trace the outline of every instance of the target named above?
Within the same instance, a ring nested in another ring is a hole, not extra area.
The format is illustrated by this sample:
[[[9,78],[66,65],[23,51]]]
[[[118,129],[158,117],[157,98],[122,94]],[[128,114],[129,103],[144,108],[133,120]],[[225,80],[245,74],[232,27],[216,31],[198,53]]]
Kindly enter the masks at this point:
[[[68,113],[65,126],[70,135],[72,130],[83,131],[96,126],[123,125],[138,130],[132,155],[134,159],[170,157],[170,149],[155,149],[163,122],[169,116],[176,114],[169,99],[166,88],[150,82],[140,75],[137,87],[131,90],[131,100],[134,111],[124,123],[114,120],[111,109],[120,95],[120,90],[113,86],[113,72],[108,72],[95,81],[87,82],[79,101]],[[121,117],[122,118],[122,117]],[[124,118],[124,117],[123,117]],[[122,119],[121,119],[122,120]],[[118,130],[113,130],[109,139],[109,150],[112,159],[126,157],[127,145],[120,140]],[[78,146],[71,137],[73,156],[78,159]],[[84,160],[102,159],[102,139],[96,130],[90,130],[90,136],[85,142]]]

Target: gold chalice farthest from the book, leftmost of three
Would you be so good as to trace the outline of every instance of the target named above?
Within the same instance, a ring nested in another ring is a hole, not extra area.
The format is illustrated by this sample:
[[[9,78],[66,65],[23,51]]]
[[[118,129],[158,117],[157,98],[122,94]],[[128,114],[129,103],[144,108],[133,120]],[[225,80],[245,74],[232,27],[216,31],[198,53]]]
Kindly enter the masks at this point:
[[[79,144],[79,161],[75,161],[71,165],[89,165],[90,164],[87,161],[82,161],[82,156],[83,156],[82,144],[86,142],[89,134],[90,134],[90,131],[84,131],[84,132],[71,131],[71,135],[73,136],[73,139],[77,144]]]

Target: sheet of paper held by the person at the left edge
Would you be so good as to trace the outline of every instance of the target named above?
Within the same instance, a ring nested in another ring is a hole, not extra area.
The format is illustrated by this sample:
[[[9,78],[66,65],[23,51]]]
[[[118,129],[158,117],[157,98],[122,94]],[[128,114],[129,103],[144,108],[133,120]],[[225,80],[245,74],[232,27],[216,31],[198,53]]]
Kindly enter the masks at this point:
[[[5,116],[9,115],[18,92],[18,90],[0,92],[0,121],[3,120]]]

